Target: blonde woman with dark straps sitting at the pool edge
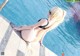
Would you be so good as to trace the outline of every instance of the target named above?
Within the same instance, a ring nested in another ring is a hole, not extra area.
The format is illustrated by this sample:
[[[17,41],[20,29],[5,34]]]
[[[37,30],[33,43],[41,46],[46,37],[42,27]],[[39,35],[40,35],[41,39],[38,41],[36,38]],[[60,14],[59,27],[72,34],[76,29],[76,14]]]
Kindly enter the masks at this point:
[[[38,23],[31,26],[13,27],[21,31],[21,36],[26,43],[40,42],[47,32],[57,27],[63,22],[66,12],[59,7],[54,7],[49,11],[48,19],[40,19]]]

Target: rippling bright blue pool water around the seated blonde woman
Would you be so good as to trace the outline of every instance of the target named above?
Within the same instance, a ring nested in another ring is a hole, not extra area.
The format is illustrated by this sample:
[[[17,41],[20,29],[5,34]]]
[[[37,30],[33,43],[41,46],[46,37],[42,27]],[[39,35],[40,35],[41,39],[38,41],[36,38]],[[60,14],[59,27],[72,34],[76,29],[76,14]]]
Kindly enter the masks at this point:
[[[0,3],[2,1],[0,0]],[[9,0],[0,14],[17,26],[31,25],[40,18],[47,18],[52,7],[61,7],[67,11],[65,20],[46,34],[43,44],[58,56],[61,56],[62,52],[65,56],[80,56],[80,35],[77,29],[80,23],[74,21],[70,11],[73,4],[74,2],[66,0]]]

